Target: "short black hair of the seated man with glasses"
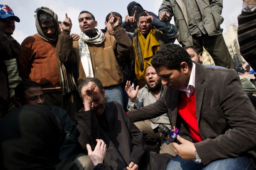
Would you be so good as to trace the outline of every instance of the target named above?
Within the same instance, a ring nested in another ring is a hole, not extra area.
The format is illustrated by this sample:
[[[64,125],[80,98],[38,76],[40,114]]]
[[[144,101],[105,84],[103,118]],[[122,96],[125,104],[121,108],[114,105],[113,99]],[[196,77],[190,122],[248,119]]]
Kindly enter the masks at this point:
[[[14,89],[15,96],[16,98],[20,98],[21,100],[23,100],[26,90],[29,88],[36,88],[36,87],[41,87],[41,85],[35,81],[23,81],[15,87]]]

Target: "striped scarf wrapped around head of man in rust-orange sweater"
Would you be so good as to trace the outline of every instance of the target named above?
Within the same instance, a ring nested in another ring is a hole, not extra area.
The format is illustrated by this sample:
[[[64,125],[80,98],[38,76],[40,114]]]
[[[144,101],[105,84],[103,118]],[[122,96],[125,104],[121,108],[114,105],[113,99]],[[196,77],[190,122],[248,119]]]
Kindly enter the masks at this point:
[[[39,14],[42,12],[52,15],[54,27],[55,27],[55,36],[54,38],[49,38],[44,34],[41,23],[39,21]],[[58,35],[61,34],[59,24],[58,24],[58,16],[51,9],[42,6],[41,8],[36,9],[35,11],[35,26],[38,31],[38,34],[47,42],[52,43],[58,40]],[[58,59],[58,57],[56,56]],[[77,90],[76,81],[72,72],[71,67],[65,67],[64,63],[58,59],[58,75],[61,85],[61,91],[64,93],[72,92]]]

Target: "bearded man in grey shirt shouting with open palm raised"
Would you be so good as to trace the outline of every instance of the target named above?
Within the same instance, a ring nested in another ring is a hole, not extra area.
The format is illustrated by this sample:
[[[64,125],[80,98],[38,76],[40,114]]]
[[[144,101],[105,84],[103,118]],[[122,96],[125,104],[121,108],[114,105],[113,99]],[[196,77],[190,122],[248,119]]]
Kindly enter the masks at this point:
[[[130,81],[127,81],[125,91],[129,96],[127,109],[133,110],[143,106],[147,106],[157,101],[163,95],[163,87],[161,79],[158,77],[153,66],[148,66],[145,71],[146,84],[143,88],[139,89],[139,86],[134,90]],[[169,117],[167,114],[160,115],[157,118],[151,118],[145,121],[139,121],[134,123],[139,130],[143,132],[143,135],[149,135],[152,139],[161,142],[159,153],[169,153],[176,156],[172,147],[167,146],[166,143],[161,141],[161,133],[159,131],[161,125],[166,125],[171,129]],[[145,138],[144,138],[145,139]],[[147,142],[146,142],[147,143]]]

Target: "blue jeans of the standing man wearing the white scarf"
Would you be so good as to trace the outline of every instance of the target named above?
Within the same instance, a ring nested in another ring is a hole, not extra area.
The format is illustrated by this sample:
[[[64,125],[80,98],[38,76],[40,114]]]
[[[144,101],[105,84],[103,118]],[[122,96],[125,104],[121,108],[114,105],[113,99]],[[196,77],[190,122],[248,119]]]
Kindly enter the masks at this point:
[[[122,88],[120,85],[105,87],[106,102],[116,101],[124,107]]]

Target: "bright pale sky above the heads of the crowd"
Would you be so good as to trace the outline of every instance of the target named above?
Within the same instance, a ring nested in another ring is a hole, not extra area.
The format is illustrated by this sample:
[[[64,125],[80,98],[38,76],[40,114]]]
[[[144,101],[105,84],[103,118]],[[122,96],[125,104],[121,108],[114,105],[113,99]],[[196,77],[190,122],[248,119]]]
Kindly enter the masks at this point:
[[[226,30],[230,23],[237,24],[237,16],[241,13],[242,0],[223,0],[222,16],[224,23],[221,28]],[[119,12],[122,17],[127,14],[127,5],[131,0],[1,0],[0,3],[10,6],[20,18],[20,23],[16,23],[13,37],[19,42],[37,33],[35,28],[35,9],[46,6],[58,14],[58,20],[64,20],[65,13],[72,20],[72,33],[80,34],[78,17],[81,11],[91,12],[98,22],[98,29],[103,29],[105,17],[111,11]],[[143,9],[158,14],[158,9],[162,0],[136,0]],[[173,19],[171,21],[173,23]]]

